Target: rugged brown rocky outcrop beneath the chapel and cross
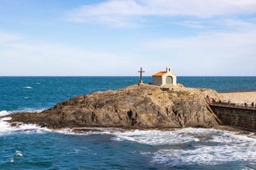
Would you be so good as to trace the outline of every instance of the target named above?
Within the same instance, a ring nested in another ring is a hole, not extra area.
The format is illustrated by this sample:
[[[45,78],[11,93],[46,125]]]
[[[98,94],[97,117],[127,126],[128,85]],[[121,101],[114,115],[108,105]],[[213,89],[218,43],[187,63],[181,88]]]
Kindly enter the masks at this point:
[[[14,113],[9,121],[35,123],[52,129],[73,127],[180,128],[212,127],[218,119],[205,96],[214,90],[131,85],[80,95],[41,113]]]

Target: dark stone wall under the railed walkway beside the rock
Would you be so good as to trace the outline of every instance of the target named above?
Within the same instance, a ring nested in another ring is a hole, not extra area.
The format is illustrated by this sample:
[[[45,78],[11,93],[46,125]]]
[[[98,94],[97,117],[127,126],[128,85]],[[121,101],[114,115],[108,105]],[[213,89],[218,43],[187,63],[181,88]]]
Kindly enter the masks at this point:
[[[256,131],[256,109],[210,105],[222,125]]]

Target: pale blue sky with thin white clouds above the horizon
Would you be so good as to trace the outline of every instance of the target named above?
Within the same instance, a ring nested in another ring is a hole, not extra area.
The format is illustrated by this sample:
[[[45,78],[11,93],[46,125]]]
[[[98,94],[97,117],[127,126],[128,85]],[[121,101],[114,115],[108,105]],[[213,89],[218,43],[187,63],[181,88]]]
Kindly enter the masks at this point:
[[[0,0],[0,76],[256,76],[256,0]]]

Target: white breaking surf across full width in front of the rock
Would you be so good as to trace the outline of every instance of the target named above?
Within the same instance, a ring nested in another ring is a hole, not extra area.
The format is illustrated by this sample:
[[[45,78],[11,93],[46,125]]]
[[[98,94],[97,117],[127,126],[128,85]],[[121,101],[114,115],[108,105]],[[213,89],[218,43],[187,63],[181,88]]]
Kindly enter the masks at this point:
[[[123,130],[119,128],[74,128],[51,131],[34,124],[16,122],[12,126],[7,121],[12,117],[0,119],[0,136],[15,133],[57,132],[64,135],[90,136],[108,135],[116,142],[128,141],[139,145],[148,145],[151,150],[139,151],[143,157],[151,159],[152,164],[167,167],[217,166],[227,163],[247,163],[256,168],[256,137],[254,134],[216,129],[185,128],[175,131]],[[22,157],[17,151],[15,157]],[[12,159],[11,159],[12,161]]]

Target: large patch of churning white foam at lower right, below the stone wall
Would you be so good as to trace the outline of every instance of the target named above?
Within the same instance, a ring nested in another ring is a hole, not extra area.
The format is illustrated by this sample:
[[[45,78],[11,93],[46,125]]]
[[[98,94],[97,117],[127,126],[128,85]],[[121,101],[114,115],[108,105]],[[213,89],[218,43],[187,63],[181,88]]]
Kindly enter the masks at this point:
[[[129,140],[158,148],[152,163],[216,165],[241,161],[256,163],[256,138],[237,132],[185,128],[178,131],[126,131],[114,140]],[[147,153],[142,153],[147,154]]]

